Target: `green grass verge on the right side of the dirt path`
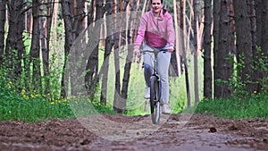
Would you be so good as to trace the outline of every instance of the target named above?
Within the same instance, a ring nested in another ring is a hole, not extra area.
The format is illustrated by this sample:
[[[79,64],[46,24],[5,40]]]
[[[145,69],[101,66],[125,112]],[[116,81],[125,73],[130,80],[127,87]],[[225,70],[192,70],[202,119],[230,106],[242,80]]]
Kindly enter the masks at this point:
[[[211,113],[230,119],[268,118],[268,96],[256,95],[244,99],[203,100],[196,113]]]

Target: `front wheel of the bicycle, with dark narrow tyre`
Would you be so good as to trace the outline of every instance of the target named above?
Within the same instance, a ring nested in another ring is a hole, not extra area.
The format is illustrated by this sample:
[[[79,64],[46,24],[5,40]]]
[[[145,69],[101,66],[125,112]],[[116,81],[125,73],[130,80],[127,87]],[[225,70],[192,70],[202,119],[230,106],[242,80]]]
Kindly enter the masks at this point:
[[[150,78],[150,107],[152,122],[158,124],[160,122],[160,101],[159,101],[159,81],[157,77]]]

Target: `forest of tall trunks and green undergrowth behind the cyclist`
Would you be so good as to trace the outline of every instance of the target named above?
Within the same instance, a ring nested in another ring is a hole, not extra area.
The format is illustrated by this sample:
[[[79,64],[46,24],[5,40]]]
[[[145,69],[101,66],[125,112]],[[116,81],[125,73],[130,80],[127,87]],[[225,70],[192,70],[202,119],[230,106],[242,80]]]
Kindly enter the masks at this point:
[[[133,43],[149,0],[0,4],[3,96],[6,88],[50,103],[87,96],[116,113],[144,102],[142,60],[133,55]],[[267,95],[268,1],[164,0],[163,6],[176,30],[174,112],[206,99]]]

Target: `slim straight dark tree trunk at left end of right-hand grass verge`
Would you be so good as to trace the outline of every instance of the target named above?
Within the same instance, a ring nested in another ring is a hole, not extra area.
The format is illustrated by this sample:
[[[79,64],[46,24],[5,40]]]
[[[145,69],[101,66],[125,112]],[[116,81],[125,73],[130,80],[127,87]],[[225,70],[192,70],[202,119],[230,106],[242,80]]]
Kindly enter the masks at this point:
[[[212,98],[212,0],[205,0],[204,33],[204,97]]]

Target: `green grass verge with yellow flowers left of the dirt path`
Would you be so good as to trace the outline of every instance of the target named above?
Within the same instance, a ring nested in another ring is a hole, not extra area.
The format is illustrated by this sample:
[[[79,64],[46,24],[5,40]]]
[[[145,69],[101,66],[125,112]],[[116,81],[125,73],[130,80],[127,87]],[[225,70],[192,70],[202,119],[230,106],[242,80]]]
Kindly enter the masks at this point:
[[[89,102],[83,100],[78,102],[82,106],[79,113],[73,108],[70,101],[66,99],[51,99],[48,96],[26,95],[15,92],[9,87],[0,87],[0,121],[23,121],[23,122],[40,122],[51,118],[74,118],[77,115],[93,114],[91,109],[94,108],[95,113],[113,114],[111,107],[107,107],[97,102]],[[85,106],[88,105],[88,106]],[[90,107],[89,106],[89,107]]]

